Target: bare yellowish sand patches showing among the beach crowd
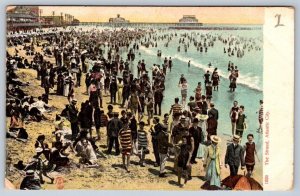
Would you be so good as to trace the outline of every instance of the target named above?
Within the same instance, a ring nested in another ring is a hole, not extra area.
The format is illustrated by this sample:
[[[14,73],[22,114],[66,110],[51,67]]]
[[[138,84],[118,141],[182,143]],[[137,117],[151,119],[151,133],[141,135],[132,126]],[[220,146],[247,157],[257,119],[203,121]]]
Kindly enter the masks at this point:
[[[35,46],[37,49],[37,47]],[[14,51],[15,47],[8,48],[8,51],[11,53]],[[19,48],[18,48],[19,49]],[[40,47],[38,48],[40,50]],[[37,51],[38,51],[37,50]],[[24,51],[19,50],[19,53],[21,56],[24,56]],[[28,58],[28,57],[26,57]],[[47,59],[47,58],[46,58]],[[49,58],[51,62],[53,62],[53,58]],[[21,87],[22,89],[28,90],[30,95],[41,95],[44,92],[44,89],[39,86],[39,81],[36,80],[36,71],[32,69],[20,69],[17,72],[18,76],[22,76],[22,81],[30,81],[29,87]],[[81,78],[81,83],[84,84],[84,76]],[[32,86],[31,86],[32,85]],[[46,135],[46,143],[51,143],[51,132],[54,127],[53,122],[51,120],[54,119],[55,114],[57,112],[61,112],[61,110],[64,108],[64,105],[68,103],[67,98],[63,96],[57,96],[52,95],[53,90],[50,91],[49,98],[49,105],[54,106],[58,109],[58,111],[52,112],[49,115],[49,121],[42,121],[41,123],[37,122],[31,122],[28,125],[25,125],[25,128],[27,129],[29,133],[29,140],[26,144],[19,143],[17,141],[6,139],[6,149],[8,153],[12,154],[12,163],[16,163],[17,159],[19,158],[18,150],[21,148],[28,148],[28,151],[26,150],[23,152],[22,159],[24,162],[27,162],[30,158],[30,155],[34,152],[33,144],[35,142],[35,139],[37,135],[39,134],[45,134]],[[86,99],[88,99],[88,96],[84,94],[85,92],[85,85],[82,85],[79,88],[75,88],[75,97],[78,100],[77,106],[80,106],[81,102],[84,102]],[[103,97],[103,110],[104,113],[107,113],[107,103],[109,102],[109,97],[104,96]],[[114,105],[114,111],[120,112],[122,108],[119,108],[117,105]],[[48,117],[48,116],[47,116]],[[144,117],[145,118],[145,117]],[[9,118],[7,118],[7,123],[9,123]],[[149,126],[145,126],[145,130],[148,131]],[[220,129],[220,128],[219,128]],[[97,146],[100,146],[100,150],[103,151],[104,143],[106,143],[106,140],[103,139],[103,136],[106,136],[106,130],[105,128],[101,128],[101,141],[97,142]],[[94,129],[93,129],[93,133]],[[228,140],[228,136],[225,135],[219,135],[222,139],[221,149],[226,149],[226,141]],[[151,158],[151,160],[154,160],[154,156],[152,153],[152,143],[150,142],[150,135],[148,134],[149,139],[149,150],[150,154],[146,156],[146,160]],[[224,160],[225,156],[225,150],[222,150],[222,159],[221,162]],[[17,154],[15,154],[17,153]],[[70,156],[71,160],[77,161],[76,157]],[[198,159],[198,163],[196,165],[193,165],[193,172],[192,176],[193,179],[187,183],[187,185],[182,189],[177,187],[177,185],[172,184],[173,181],[177,181],[177,176],[170,173],[170,170],[167,169],[168,177],[167,178],[158,178],[157,174],[157,168],[153,167],[151,164],[146,161],[146,167],[140,168],[139,166],[135,165],[134,163],[137,162],[139,159],[136,156],[132,157],[132,164],[131,164],[131,173],[127,174],[125,173],[125,170],[120,169],[119,165],[122,163],[121,157],[115,157],[115,156],[108,156],[108,159],[98,159],[97,163],[102,169],[74,169],[71,168],[70,174],[65,174],[65,189],[101,189],[101,190],[199,190],[200,186],[204,183],[200,179],[200,176],[203,176],[205,173],[203,171],[203,167],[201,164],[201,161]],[[166,166],[167,168],[172,167],[173,163],[167,162]],[[261,167],[262,163],[257,163],[256,169]],[[99,171],[97,171],[99,170]],[[102,171],[101,171],[102,170]],[[239,170],[240,174],[243,174],[242,170]],[[15,173],[14,173],[15,174]],[[13,175],[14,175],[13,174]],[[6,174],[7,175],[7,174]],[[7,175],[7,178],[13,182],[14,185],[19,185],[20,179],[15,179],[13,175]],[[16,174],[15,174],[16,175]],[[52,175],[52,174],[50,174]],[[56,175],[55,173],[53,176]],[[224,179],[229,175],[229,168],[221,168],[221,179]],[[262,174],[257,174],[257,172],[254,173],[254,178],[258,180],[260,183],[262,182]],[[61,175],[57,175],[61,176]],[[121,176],[121,178],[120,178]],[[123,177],[123,179],[122,179]],[[135,178],[138,177],[138,178]],[[149,181],[150,182],[149,182]],[[96,182],[95,182],[96,181]],[[115,183],[114,183],[115,182]],[[18,187],[18,186],[17,186]],[[119,189],[118,187],[126,187],[126,189]],[[159,189],[158,189],[159,187]],[[56,189],[55,184],[44,184],[42,185],[43,189]],[[128,189],[127,189],[128,188]]]

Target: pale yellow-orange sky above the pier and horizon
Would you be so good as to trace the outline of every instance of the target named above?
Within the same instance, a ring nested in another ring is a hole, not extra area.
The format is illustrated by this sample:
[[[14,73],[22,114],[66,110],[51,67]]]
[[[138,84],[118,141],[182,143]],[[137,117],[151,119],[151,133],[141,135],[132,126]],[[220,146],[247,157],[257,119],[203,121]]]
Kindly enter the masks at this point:
[[[10,9],[8,7],[7,9]],[[42,16],[71,14],[81,22],[108,22],[120,14],[130,22],[178,22],[183,15],[195,15],[201,23],[263,24],[263,7],[115,7],[40,6]]]

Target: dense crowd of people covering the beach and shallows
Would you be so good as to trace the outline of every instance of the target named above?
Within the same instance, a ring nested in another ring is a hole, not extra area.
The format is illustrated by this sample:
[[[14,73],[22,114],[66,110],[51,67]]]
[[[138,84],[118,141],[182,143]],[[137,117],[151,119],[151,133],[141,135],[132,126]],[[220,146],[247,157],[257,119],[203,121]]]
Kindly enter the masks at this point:
[[[15,47],[15,51],[7,52],[6,62],[6,115],[11,119],[7,137],[26,142],[30,135],[25,124],[32,121],[43,123],[49,120],[46,114],[56,112],[52,144],[45,142],[44,134],[39,135],[32,160],[26,164],[23,161],[15,164],[19,170],[26,171],[20,188],[40,189],[44,183],[43,176],[53,183],[54,177],[48,173],[54,170],[61,172],[69,167],[73,162],[69,158],[70,153],[79,157],[80,167],[86,168],[98,168],[99,159],[105,161],[110,155],[121,154],[127,172],[137,169],[130,165],[132,156],[139,157],[140,167],[145,167],[145,157],[153,153],[153,167],[159,167],[159,177],[167,176],[165,165],[173,157],[173,172],[178,176],[178,186],[183,187],[192,179],[194,164],[203,164],[206,171],[203,188],[221,189],[221,150],[224,149],[220,149],[221,138],[217,131],[219,112],[213,102],[213,91],[218,91],[220,84],[218,69],[215,68],[213,73],[207,71],[204,80],[196,86],[195,94],[189,98],[187,79],[182,74],[178,83],[181,99],[175,98],[170,111],[163,113],[164,97],[168,96],[164,94],[166,75],[174,67],[172,57],[163,58],[159,50],[158,56],[164,59],[163,64],[153,64],[149,68],[139,53],[139,47],[157,47],[157,41],[167,40],[165,47],[168,47],[173,36],[179,35],[157,35],[153,29],[84,31],[71,28],[35,35],[34,38],[30,35],[8,38],[8,45]],[[192,35],[181,36],[179,44],[183,44],[185,51],[191,41],[197,50],[207,52],[214,42],[222,40],[211,35],[201,36],[201,41]],[[242,41],[245,42],[244,49],[250,47],[248,42]],[[222,42],[227,44],[226,40]],[[229,46],[236,42],[238,40],[230,39]],[[19,46],[22,48],[17,49]],[[36,51],[38,47],[41,52]],[[19,50],[25,51],[25,56],[20,55]],[[234,55],[234,51],[238,57],[243,57],[244,52],[239,48],[224,48],[228,55]],[[126,54],[127,58],[123,59],[122,54]],[[141,60],[133,69],[133,61],[138,58]],[[40,81],[44,93],[33,97],[25,91],[23,87],[31,83],[22,81],[22,77],[16,74],[18,69],[35,70],[36,80]],[[234,92],[239,72],[232,62],[228,64],[228,71],[231,73],[229,88]],[[202,83],[205,89],[202,89]],[[76,88],[81,86],[85,87],[85,92],[81,93],[88,96],[87,100],[76,98]],[[49,104],[53,95],[68,99],[62,111]],[[105,96],[110,97],[110,103],[104,102]],[[258,131],[262,132],[262,100],[260,105]],[[120,113],[117,112],[119,110]],[[227,146],[224,160],[231,176],[238,174],[240,166],[241,169],[246,167],[249,177],[254,171],[257,156],[254,135],[248,134],[248,142],[241,144],[247,128],[244,112],[245,107],[234,101],[229,112],[232,143]],[[103,140],[106,149],[98,145]]]

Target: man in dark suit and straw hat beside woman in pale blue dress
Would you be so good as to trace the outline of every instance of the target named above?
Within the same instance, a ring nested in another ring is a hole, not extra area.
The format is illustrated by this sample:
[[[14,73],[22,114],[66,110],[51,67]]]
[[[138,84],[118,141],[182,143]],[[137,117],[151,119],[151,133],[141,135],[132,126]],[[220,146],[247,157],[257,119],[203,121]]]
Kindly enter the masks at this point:
[[[242,170],[245,167],[244,149],[239,144],[240,137],[238,135],[233,136],[233,143],[227,146],[225,155],[225,168],[229,165],[230,176],[236,176],[239,166],[242,165]]]

